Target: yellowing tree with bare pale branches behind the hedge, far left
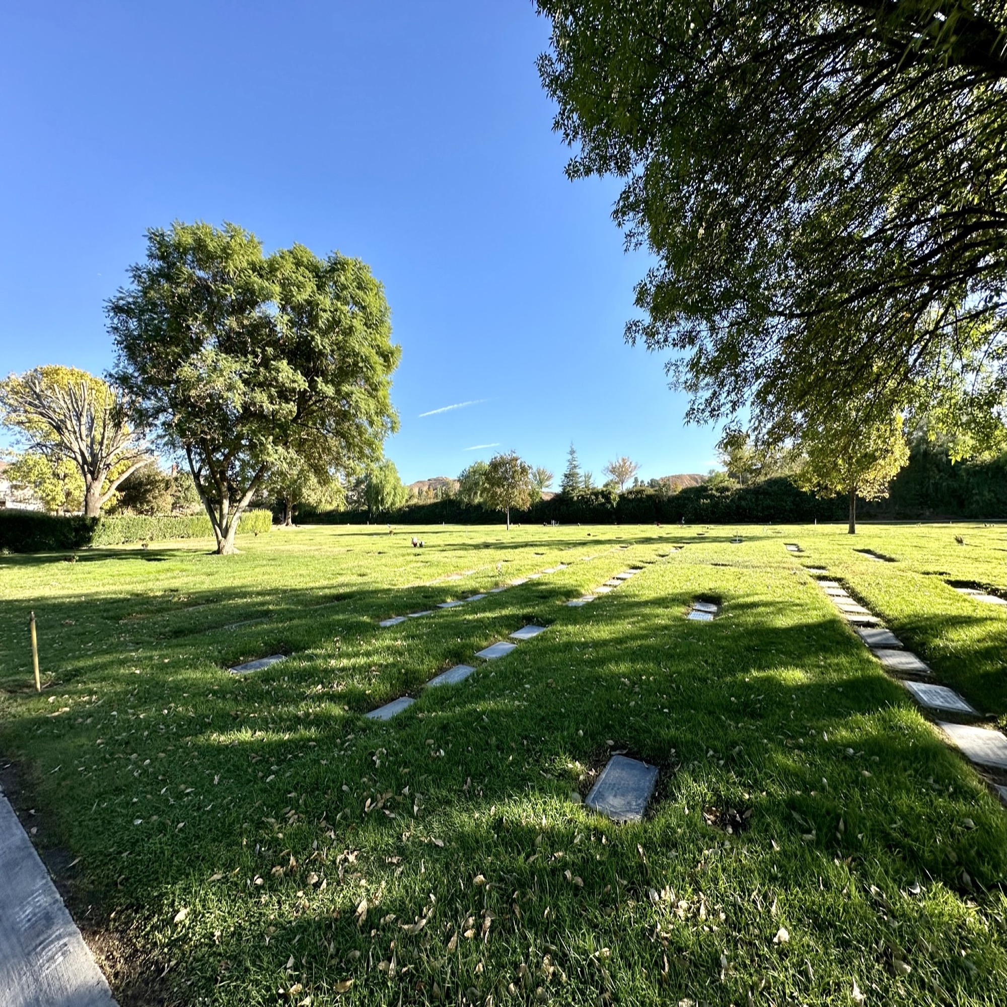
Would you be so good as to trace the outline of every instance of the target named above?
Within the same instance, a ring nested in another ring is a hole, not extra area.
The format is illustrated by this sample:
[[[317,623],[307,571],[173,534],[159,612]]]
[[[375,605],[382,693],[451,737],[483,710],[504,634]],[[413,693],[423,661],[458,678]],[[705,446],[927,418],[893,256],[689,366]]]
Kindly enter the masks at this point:
[[[84,481],[89,518],[97,518],[119,484],[153,460],[126,414],[118,388],[77,368],[45,366],[0,382],[0,423],[14,428],[26,444],[23,466],[43,456],[45,465],[34,464],[33,471],[51,487],[73,465]],[[57,481],[65,484],[64,478]],[[51,501],[53,494],[45,495]]]

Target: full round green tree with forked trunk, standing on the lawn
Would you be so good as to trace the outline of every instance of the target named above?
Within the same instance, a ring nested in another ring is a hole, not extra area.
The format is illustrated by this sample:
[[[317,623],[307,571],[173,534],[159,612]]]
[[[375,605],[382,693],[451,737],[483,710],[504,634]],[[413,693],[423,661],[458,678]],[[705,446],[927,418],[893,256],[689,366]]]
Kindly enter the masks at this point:
[[[377,457],[397,427],[399,347],[359,260],[301,245],[263,254],[235,225],[147,232],[147,257],[107,307],[137,422],[188,462],[217,536],[274,468],[322,473]]]

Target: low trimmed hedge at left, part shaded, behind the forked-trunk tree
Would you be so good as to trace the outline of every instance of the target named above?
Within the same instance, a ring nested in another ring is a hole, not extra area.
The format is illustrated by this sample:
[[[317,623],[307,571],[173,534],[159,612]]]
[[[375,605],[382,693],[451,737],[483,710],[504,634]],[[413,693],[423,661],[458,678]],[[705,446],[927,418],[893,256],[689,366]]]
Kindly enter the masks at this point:
[[[269,511],[246,511],[239,535],[268,532],[273,527]],[[88,546],[122,546],[129,542],[162,542],[168,539],[208,539],[213,535],[204,514],[188,517],[57,518],[36,511],[0,511],[0,549],[15,553],[85,549]]]

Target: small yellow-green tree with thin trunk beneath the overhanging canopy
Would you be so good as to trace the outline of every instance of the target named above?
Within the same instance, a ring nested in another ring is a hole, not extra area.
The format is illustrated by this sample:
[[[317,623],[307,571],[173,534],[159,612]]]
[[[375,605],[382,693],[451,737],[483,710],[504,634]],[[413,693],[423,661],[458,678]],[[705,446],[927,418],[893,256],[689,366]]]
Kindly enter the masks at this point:
[[[802,439],[806,461],[799,481],[824,495],[844,493],[850,501],[849,533],[857,533],[857,496],[880,499],[909,460],[902,418],[861,422],[860,410],[837,406],[825,420],[810,427]]]

